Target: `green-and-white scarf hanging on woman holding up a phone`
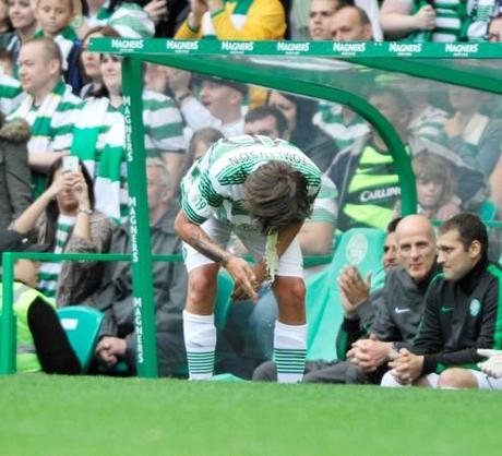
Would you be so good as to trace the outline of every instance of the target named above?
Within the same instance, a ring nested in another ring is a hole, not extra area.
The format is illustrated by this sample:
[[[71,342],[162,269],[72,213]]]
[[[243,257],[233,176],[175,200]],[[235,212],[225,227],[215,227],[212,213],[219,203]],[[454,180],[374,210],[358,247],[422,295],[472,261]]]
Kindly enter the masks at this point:
[[[58,228],[56,230],[56,245],[53,253],[63,253],[64,245],[70,239],[71,231],[75,225],[75,216],[60,214]],[[61,274],[62,263],[43,263],[38,272],[38,289],[48,298],[55,298],[58,279]]]

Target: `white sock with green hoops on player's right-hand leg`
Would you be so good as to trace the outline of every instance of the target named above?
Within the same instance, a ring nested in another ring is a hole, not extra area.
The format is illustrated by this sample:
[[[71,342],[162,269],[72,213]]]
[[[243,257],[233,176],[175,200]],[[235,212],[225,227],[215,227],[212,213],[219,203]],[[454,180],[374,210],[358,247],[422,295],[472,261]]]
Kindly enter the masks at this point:
[[[279,383],[298,383],[303,377],[307,353],[307,325],[275,322],[274,360]]]

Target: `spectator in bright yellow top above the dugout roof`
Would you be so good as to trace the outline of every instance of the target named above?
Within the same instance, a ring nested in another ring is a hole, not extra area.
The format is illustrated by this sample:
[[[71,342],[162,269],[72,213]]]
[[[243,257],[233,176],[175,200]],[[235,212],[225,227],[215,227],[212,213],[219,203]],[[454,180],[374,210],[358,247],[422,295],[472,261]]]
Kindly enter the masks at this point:
[[[175,38],[282,39],[285,32],[279,0],[191,0],[188,20]]]

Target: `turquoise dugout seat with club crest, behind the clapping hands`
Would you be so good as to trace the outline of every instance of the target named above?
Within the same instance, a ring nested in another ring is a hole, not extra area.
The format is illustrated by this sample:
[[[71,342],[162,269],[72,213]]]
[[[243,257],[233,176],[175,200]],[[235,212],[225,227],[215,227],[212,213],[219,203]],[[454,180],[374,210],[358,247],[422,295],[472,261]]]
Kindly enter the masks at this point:
[[[384,241],[385,232],[380,229],[350,229],[342,236],[331,265],[307,281],[307,359],[336,359],[335,338],[344,316],[338,274],[343,267],[354,265],[363,277],[372,273],[373,290],[382,287]]]

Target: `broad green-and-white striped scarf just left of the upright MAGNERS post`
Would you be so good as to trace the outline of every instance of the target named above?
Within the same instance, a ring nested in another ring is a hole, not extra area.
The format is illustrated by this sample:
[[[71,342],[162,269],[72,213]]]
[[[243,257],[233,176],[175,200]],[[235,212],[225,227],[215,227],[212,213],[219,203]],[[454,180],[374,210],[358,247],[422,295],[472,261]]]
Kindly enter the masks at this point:
[[[124,137],[120,108],[112,108],[108,98],[91,98],[84,105],[71,147],[94,178],[96,209],[118,225],[128,215]]]

